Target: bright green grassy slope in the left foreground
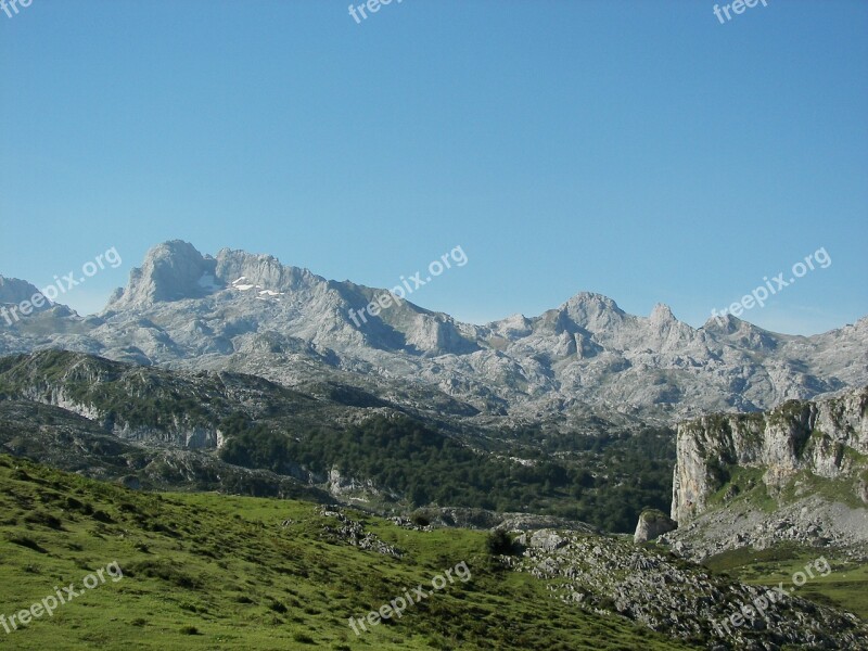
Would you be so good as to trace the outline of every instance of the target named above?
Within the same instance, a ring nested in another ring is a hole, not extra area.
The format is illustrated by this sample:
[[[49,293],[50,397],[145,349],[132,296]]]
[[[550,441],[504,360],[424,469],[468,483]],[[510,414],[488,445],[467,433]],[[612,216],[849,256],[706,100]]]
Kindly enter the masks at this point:
[[[400,559],[323,537],[316,505],[145,494],[0,456],[0,614],[117,562],[123,578],[7,633],[14,649],[688,649],[552,599],[503,571],[485,534],[414,532],[361,513]],[[283,526],[282,523],[292,523]],[[464,562],[456,580],[356,636],[365,617]]]

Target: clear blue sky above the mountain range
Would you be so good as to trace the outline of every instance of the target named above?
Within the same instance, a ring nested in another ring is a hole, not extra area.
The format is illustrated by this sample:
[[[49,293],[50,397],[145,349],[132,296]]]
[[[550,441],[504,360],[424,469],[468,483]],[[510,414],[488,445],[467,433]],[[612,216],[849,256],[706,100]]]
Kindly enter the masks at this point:
[[[469,321],[579,291],[810,334],[868,314],[868,3],[33,0],[0,13],[0,275],[100,309],[152,245],[276,255]],[[356,4],[360,4],[356,2]]]

